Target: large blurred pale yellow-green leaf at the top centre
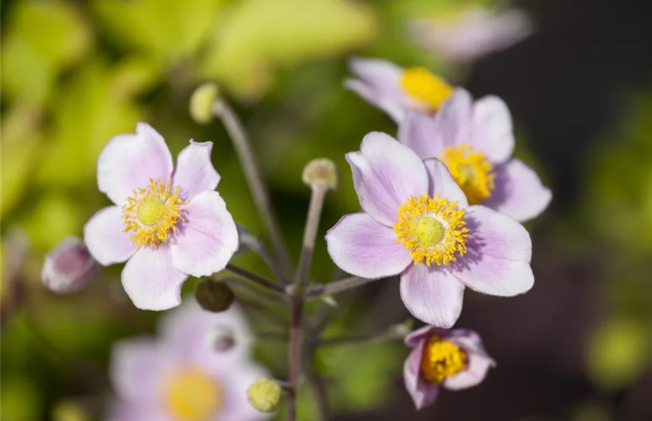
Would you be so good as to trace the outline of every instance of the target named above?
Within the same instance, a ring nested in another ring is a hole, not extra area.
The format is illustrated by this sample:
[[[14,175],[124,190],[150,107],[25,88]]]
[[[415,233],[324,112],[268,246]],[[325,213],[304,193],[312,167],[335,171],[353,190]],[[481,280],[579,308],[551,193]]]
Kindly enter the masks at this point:
[[[350,50],[377,29],[372,9],[353,1],[242,1],[215,27],[201,69],[236,95],[256,98],[276,65]]]

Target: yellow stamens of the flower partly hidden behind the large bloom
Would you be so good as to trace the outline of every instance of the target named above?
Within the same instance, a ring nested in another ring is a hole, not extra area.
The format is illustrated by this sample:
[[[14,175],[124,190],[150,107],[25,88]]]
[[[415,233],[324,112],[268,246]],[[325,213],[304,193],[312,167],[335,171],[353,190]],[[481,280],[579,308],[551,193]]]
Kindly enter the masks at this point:
[[[473,150],[469,145],[447,147],[440,160],[466,194],[469,204],[475,205],[491,196],[496,173],[482,152]]]

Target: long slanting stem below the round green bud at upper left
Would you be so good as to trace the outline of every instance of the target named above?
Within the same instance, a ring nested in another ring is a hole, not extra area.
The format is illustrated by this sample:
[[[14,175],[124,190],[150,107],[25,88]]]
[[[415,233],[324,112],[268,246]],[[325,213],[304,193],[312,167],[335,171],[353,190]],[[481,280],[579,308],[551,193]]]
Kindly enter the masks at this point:
[[[283,243],[283,236],[280,234],[280,227],[274,208],[271,205],[269,191],[259,171],[259,166],[254,157],[251,142],[243,127],[243,123],[238,119],[238,116],[236,116],[236,113],[233,112],[229,104],[222,98],[215,102],[213,114],[222,119],[224,128],[226,128],[229,137],[231,137],[233,147],[236,149],[236,154],[238,154],[238,159],[240,159],[240,165],[245,173],[245,179],[247,180],[247,185],[249,185],[252,199],[254,199],[260,219],[269,233],[276,258],[280,261],[282,267],[286,271],[289,271],[292,267],[292,262],[290,262],[290,256],[287,254],[285,243]]]

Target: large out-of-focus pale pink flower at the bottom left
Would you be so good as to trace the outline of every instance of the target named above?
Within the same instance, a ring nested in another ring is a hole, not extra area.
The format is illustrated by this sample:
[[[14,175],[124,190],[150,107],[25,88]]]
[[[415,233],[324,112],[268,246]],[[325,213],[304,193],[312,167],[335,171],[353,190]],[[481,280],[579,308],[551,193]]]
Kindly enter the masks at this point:
[[[266,372],[245,344],[233,353],[208,347],[207,329],[218,323],[248,330],[236,309],[215,314],[189,302],[164,317],[159,338],[118,342],[110,367],[118,400],[109,420],[266,419],[247,401],[247,389]]]

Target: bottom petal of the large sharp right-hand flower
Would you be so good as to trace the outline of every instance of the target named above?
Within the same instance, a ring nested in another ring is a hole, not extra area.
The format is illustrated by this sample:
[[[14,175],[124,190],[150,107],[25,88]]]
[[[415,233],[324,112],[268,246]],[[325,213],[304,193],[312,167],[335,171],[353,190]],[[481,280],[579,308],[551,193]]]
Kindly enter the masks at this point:
[[[430,325],[449,328],[462,312],[464,286],[443,267],[423,263],[408,267],[400,289],[409,312]]]

